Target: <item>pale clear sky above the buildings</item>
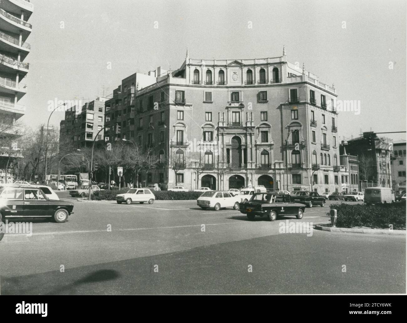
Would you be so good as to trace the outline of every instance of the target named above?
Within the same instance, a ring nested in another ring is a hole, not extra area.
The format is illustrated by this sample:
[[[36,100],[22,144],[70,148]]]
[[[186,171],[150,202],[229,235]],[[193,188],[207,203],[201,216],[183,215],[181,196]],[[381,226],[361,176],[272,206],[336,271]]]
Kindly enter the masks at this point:
[[[360,114],[339,113],[341,140],[406,130],[405,1],[31,2],[28,88],[19,101],[29,127],[46,124],[49,100],[87,102],[134,72],[177,69],[186,48],[195,59],[253,59],[281,56],[284,45],[288,61],[335,84],[338,100],[360,101]],[[50,124],[63,117],[56,111]]]

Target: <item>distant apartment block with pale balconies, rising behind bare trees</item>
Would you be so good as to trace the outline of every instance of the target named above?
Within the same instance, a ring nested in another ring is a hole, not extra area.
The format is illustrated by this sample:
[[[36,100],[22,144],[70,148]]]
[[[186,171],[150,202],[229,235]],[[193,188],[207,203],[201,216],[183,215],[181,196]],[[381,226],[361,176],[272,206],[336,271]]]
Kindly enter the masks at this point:
[[[65,119],[59,124],[60,145],[71,143],[77,148],[92,147],[95,138],[96,141],[103,141],[107,100],[108,98],[99,97],[83,104],[80,109],[74,106],[65,111]]]

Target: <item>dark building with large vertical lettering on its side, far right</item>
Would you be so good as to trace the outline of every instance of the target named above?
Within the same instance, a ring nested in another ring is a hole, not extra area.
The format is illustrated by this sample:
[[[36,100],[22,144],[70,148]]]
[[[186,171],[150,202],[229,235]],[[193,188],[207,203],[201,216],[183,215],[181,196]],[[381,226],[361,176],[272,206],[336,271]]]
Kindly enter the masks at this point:
[[[344,143],[346,152],[357,156],[359,161],[360,189],[366,186],[392,187],[390,155],[392,141],[377,137],[372,131]]]

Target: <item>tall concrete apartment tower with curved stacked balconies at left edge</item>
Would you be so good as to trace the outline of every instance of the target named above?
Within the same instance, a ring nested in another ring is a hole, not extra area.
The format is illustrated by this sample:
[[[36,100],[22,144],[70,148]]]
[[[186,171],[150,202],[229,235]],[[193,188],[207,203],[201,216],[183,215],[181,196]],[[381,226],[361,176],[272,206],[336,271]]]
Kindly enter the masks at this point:
[[[25,107],[18,101],[26,94],[23,78],[29,65],[24,62],[30,52],[27,38],[32,26],[28,20],[33,13],[33,4],[26,0],[0,1],[0,136],[7,143],[6,149],[15,154],[0,155],[0,169],[7,165],[9,155],[20,156],[20,150],[13,142],[20,136],[21,129],[15,122],[25,113]],[[7,156],[5,156],[7,155]],[[5,180],[5,174],[2,174]]]

